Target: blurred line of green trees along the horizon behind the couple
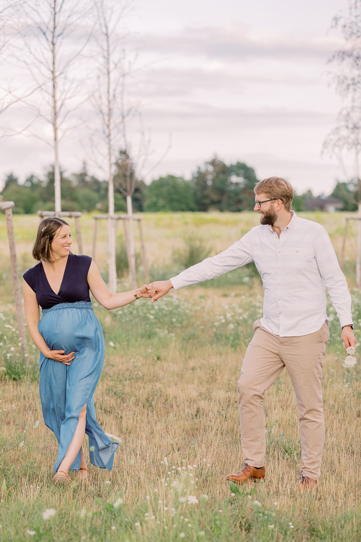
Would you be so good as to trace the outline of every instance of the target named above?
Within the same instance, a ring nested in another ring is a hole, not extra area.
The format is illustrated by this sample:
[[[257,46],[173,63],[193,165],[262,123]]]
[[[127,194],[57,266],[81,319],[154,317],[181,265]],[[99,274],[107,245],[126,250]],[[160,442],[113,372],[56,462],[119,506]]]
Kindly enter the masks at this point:
[[[121,188],[127,182],[128,172],[124,171],[124,157],[120,153],[114,176],[115,212],[126,212],[126,197]],[[131,172],[135,175],[134,171]],[[137,179],[133,195],[133,206],[137,212],[157,211],[246,211],[253,208],[253,188],[258,178],[253,167],[244,162],[226,164],[213,158],[197,168],[191,179],[167,175],[146,184]],[[71,175],[61,171],[62,209],[66,211],[108,212],[108,180],[90,175],[86,164],[82,170]],[[344,211],[357,209],[357,181],[337,182],[331,196],[339,199]],[[313,197],[309,190],[295,194],[292,208],[305,210],[305,201]],[[15,202],[14,212],[32,214],[39,210],[54,210],[54,167],[40,178],[30,175],[23,184],[10,173],[0,199]]]

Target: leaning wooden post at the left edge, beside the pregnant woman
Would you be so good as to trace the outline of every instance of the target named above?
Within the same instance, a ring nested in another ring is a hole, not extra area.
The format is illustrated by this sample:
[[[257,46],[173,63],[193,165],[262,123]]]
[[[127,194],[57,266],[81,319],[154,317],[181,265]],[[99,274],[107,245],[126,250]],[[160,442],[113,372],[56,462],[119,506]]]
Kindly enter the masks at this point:
[[[15,205],[14,202],[0,202],[0,211],[5,211],[6,228],[8,229],[10,262],[11,262],[11,279],[12,279],[12,287],[14,289],[17,330],[19,334],[19,339],[21,340],[21,344],[23,347],[24,355],[28,356],[28,343],[27,343],[27,335],[25,333],[23,307],[22,307],[22,301],[21,301],[19,274],[18,274],[18,267],[17,267],[14,224],[12,223],[11,209],[14,207],[14,205]]]

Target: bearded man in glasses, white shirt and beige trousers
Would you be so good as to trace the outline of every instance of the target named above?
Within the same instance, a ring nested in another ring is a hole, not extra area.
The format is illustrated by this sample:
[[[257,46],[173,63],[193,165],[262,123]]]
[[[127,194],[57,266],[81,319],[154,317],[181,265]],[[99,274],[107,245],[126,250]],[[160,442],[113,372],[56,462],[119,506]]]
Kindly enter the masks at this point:
[[[213,279],[254,262],[264,288],[263,317],[253,324],[238,382],[244,467],[227,480],[265,478],[264,392],[284,367],[298,403],[303,467],[296,491],[316,488],[320,478],[325,424],[322,366],[330,339],[326,291],[336,309],[345,349],[356,345],[347,288],[330,237],[323,226],[291,210],[293,189],[281,177],[254,187],[260,224],[224,252],[189,267],[167,281],[153,282],[156,301],[169,292]]]

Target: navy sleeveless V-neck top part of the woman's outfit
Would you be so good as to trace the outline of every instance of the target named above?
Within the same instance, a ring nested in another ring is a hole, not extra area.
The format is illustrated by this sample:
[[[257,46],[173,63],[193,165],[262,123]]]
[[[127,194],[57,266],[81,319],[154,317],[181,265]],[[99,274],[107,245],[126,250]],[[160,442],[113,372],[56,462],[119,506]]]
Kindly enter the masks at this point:
[[[57,294],[50,288],[42,262],[28,269],[23,274],[23,278],[36,293],[36,300],[41,308],[50,308],[59,303],[90,302],[88,285],[90,263],[90,256],[69,254],[63,280]]]

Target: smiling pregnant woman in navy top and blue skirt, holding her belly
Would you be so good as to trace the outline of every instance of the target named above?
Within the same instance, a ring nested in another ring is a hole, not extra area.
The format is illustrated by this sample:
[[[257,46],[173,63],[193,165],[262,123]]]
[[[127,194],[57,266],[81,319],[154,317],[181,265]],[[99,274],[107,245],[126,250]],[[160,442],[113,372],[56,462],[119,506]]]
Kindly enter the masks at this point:
[[[94,391],[104,362],[102,328],[89,289],[107,309],[149,297],[146,286],[111,294],[89,256],[71,254],[69,224],[44,218],[32,256],[40,261],[24,274],[25,317],[40,350],[40,398],[44,422],[58,440],[55,483],[70,483],[69,470],[88,477],[82,443],[89,438],[90,462],[111,470],[119,444],[96,421]],[[40,319],[39,306],[42,307]]]

